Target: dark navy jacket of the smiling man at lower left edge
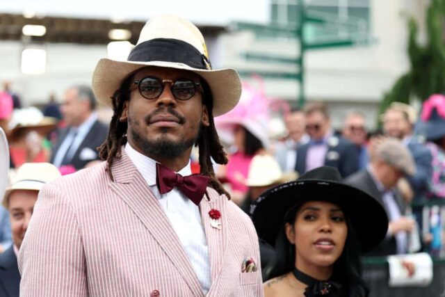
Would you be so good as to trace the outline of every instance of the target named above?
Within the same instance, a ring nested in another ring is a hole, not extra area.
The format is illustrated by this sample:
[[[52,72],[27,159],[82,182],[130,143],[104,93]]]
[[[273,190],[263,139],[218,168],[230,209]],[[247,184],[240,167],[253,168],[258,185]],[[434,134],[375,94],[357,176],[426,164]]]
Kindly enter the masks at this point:
[[[0,254],[0,296],[19,297],[20,273],[14,248]]]

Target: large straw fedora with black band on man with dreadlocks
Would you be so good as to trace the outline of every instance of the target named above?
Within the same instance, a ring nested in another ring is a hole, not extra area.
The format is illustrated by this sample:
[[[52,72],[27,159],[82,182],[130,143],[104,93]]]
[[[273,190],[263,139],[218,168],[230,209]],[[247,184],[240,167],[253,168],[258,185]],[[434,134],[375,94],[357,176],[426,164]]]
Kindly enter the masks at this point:
[[[241,81],[233,69],[212,70],[201,32],[186,19],[161,15],[150,19],[139,35],[127,61],[102,58],[92,75],[96,97],[113,106],[113,94],[129,75],[146,66],[189,70],[200,75],[211,89],[213,115],[222,115],[236,106]]]

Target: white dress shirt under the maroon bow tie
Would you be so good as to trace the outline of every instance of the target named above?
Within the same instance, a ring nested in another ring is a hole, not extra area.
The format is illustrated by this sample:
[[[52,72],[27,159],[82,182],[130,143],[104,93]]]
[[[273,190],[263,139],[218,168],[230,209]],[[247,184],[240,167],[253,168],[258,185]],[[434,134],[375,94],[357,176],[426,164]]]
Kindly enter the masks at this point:
[[[125,145],[125,152],[161,204],[186,251],[202,291],[207,294],[211,286],[209,247],[202,225],[200,208],[177,188],[161,195],[156,186],[156,161],[140,154],[129,143]],[[191,175],[190,161],[177,173],[182,176]]]

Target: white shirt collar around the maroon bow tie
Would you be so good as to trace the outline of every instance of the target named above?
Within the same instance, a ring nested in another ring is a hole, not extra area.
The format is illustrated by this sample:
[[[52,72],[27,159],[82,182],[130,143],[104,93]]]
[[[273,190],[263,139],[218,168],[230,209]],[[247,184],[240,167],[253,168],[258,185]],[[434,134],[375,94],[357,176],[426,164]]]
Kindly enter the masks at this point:
[[[137,150],[135,150],[129,143],[125,145],[125,152],[129,156],[130,160],[133,162],[136,169],[140,172],[140,175],[143,176],[145,179],[145,182],[149,186],[155,186],[156,185],[156,162],[154,159],[149,158],[148,156],[145,156],[145,154],[141,154]],[[179,170],[180,175],[183,177],[191,175],[191,162],[188,160],[187,165]]]

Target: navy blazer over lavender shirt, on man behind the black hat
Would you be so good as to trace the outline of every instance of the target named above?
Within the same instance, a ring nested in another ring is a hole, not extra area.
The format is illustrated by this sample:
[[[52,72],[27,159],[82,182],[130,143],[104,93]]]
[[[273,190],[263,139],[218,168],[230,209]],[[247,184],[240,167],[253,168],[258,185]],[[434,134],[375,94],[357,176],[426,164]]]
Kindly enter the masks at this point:
[[[297,162],[295,169],[299,175],[306,172],[306,157],[309,143],[298,147]],[[341,136],[332,136],[327,141],[327,152],[325,155],[325,166],[335,167],[339,170],[341,177],[345,178],[359,170],[359,147]]]

